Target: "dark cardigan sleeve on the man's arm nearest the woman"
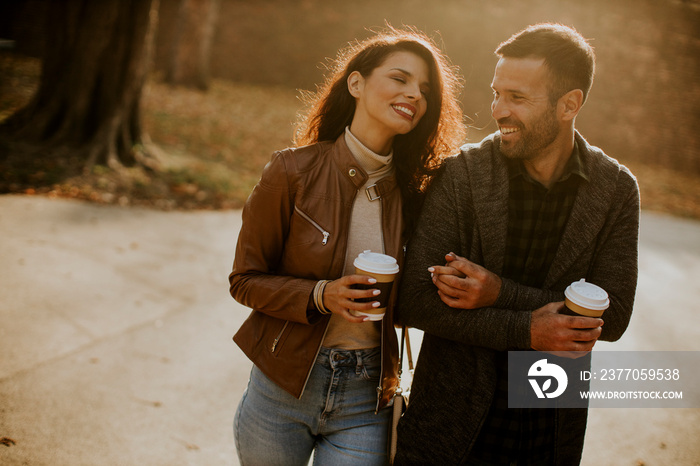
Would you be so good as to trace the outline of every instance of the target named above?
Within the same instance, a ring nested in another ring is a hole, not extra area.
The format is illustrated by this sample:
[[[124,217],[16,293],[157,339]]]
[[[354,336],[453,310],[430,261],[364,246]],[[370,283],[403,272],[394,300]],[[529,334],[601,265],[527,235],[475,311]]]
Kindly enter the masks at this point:
[[[496,350],[526,349],[530,313],[503,308],[453,309],[440,299],[428,267],[445,254],[464,254],[473,238],[474,213],[466,181],[447,169],[431,185],[409,242],[401,280],[398,320],[440,338]]]

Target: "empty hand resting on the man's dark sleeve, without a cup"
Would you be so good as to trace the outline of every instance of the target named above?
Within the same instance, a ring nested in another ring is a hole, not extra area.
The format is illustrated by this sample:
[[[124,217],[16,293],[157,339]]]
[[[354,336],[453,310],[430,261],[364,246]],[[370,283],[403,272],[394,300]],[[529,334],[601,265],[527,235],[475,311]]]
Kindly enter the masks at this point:
[[[445,256],[444,267],[428,268],[440,299],[457,309],[492,306],[501,291],[501,277],[454,253]]]

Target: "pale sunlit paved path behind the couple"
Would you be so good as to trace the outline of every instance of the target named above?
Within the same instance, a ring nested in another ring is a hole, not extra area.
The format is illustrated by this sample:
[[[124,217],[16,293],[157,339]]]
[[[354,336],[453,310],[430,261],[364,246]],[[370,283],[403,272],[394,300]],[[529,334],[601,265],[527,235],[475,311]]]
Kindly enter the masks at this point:
[[[0,196],[0,464],[236,465],[239,227],[239,212]],[[700,222],[645,213],[640,265],[606,349],[700,350]],[[700,409],[591,410],[583,465],[698,465],[698,438]]]

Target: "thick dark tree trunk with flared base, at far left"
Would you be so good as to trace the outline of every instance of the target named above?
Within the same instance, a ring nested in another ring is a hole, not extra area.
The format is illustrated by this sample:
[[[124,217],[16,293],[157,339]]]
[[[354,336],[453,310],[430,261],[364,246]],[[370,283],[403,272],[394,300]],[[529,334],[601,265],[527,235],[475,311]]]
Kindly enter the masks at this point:
[[[148,162],[140,100],[158,0],[52,1],[39,89],[2,132],[33,157],[70,154],[84,167]]]

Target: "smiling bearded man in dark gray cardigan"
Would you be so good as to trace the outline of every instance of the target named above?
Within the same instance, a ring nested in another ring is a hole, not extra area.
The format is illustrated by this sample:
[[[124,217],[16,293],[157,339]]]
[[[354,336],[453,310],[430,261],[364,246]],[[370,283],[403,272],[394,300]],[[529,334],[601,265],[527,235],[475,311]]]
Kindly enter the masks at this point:
[[[578,464],[587,411],[509,409],[507,351],[588,352],[632,313],[639,189],[574,127],[592,48],[539,24],[496,54],[499,131],[447,162],[408,247],[399,320],[425,333],[400,465]],[[561,313],[581,278],[608,292],[603,319]]]

